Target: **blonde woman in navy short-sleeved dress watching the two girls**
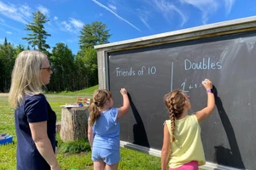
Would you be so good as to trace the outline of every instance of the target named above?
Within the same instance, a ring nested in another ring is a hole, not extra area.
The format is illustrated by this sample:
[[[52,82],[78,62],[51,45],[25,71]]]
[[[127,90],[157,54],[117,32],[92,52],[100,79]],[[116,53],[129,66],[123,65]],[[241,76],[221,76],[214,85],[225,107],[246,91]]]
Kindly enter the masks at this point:
[[[60,170],[55,156],[56,115],[43,87],[53,73],[47,55],[26,50],[15,59],[9,105],[15,109],[17,170]]]

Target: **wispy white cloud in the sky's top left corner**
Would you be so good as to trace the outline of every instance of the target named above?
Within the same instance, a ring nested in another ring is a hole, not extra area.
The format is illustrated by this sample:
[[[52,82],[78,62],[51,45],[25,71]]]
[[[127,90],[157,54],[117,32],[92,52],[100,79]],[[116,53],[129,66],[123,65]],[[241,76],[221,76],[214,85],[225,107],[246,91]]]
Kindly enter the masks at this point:
[[[32,15],[31,8],[25,5],[15,5],[0,1],[0,14],[5,17],[26,24]]]

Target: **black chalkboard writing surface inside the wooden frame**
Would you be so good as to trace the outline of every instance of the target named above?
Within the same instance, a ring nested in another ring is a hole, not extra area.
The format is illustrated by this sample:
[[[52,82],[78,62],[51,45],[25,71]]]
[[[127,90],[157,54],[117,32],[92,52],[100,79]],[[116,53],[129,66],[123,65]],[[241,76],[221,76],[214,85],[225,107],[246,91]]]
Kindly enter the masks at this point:
[[[108,82],[115,106],[120,88],[131,110],[120,120],[120,139],[160,150],[168,113],[163,96],[182,88],[192,111],[207,105],[201,81],[212,80],[216,108],[201,123],[207,161],[228,167],[256,167],[256,32],[210,37],[108,53]]]

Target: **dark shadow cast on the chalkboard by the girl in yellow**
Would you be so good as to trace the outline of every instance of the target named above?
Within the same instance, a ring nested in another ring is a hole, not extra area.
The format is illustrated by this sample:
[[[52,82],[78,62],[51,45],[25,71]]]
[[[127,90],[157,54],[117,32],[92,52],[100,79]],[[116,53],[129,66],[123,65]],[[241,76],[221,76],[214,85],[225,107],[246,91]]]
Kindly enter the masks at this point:
[[[218,97],[217,88],[213,87],[213,90],[215,94],[215,104],[218,109],[218,115],[220,116],[220,120],[224,126],[224,130],[230,143],[230,149],[224,148],[224,146],[222,145],[214,146],[215,159],[218,165],[245,169],[244,163],[241,160],[241,153],[236,141],[236,134],[234,132],[230,119],[226,111],[224,110],[221,99]]]

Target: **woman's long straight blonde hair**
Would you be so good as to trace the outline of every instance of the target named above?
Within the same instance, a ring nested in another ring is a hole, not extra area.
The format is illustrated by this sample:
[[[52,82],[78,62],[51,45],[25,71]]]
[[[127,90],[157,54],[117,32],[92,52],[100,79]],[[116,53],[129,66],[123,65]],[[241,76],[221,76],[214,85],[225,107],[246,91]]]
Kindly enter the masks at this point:
[[[41,67],[47,55],[39,51],[22,51],[15,59],[9,91],[9,105],[17,109],[24,94],[42,94],[44,83],[41,79]]]

